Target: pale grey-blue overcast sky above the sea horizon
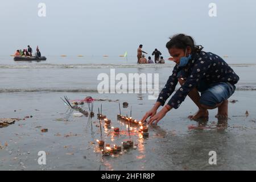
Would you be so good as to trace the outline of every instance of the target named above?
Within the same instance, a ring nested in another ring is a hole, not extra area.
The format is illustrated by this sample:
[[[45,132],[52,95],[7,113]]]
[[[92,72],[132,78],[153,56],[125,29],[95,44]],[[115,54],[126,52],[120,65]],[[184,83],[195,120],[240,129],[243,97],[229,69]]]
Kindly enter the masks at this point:
[[[46,4],[46,17],[38,4]],[[217,17],[210,17],[209,3]],[[253,0],[9,0],[0,5],[0,55],[28,44],[43,55],[136,56],[139,44],[152,53],[176,33],[191,35],[205,51],[254,56],[256,2]]]

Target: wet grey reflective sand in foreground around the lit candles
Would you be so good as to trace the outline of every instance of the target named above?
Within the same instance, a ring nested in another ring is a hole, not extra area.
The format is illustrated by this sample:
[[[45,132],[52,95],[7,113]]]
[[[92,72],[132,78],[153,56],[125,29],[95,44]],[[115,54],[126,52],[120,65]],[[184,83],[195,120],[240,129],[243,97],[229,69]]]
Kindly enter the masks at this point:
[[[149,127],[149,137],[140,139],[131,133],[136,150],[116,158],[102,157],[96,139],[100,139],[97,117],[88,123],[86,117],[73,117],[60,97],[71,100],[86,96],[129,102],[122,114],[141,119],[155,101],[146,94],[97,94],[80,92],[13,92],[0,93],[1,118],[32,118],[0,128],[0,170],[255,170],[256,169],[256,91],[237,90],[229,103],[228,123],[214,118],[209,111],[207,121],[190,121],[196,112],[189,98],[177,110],[170,111],[158,126]],[[102,114],[112,126],[122,131],[118,136],[104,131],[106,143],[121,144],[128,139],[126,125],[117,121],[118,102],[95,101],[94,111],[102,104]],[[82,106],[88,110],[87,104]],[[16,110],[16,111],[14,111]],[[245,112],[249,111],[249,116]],[[95,123],[94,123],[95,122]],[[200,124],[201,127],[196,128]],[[41,129],[48,129],[42,133]],[[190,128],[190,129],[189,129]],[[6,146],[5,146],[6,144]],[[46,151],[46,165],[38,164],[38,152]],[[209,151],[217,152],[217,165],[210,165]]]

